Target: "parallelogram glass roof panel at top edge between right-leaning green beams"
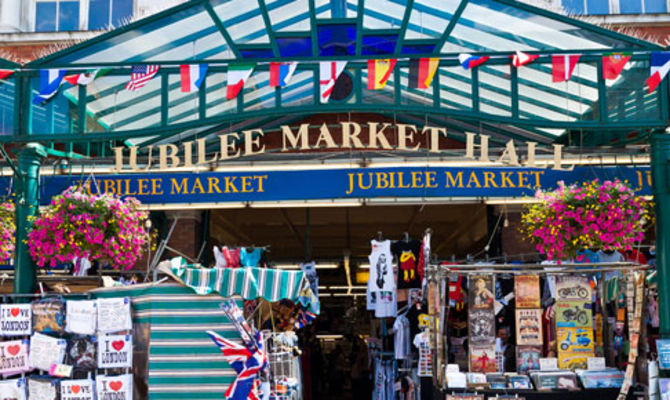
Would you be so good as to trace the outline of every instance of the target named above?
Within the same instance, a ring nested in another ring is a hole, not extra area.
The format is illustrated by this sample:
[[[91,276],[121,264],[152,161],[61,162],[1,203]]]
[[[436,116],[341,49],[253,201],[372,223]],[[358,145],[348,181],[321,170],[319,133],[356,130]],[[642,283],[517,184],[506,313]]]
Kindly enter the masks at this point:
[[[439,38],[461,0],[414,0],[405,39]]]

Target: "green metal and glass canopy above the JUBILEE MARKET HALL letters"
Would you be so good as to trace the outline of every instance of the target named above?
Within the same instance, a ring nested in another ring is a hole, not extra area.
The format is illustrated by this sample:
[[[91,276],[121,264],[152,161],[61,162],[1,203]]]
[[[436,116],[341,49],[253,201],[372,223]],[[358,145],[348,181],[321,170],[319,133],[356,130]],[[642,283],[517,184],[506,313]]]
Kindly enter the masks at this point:
[[[516,68],[510,55],[540,54]],[[4,141],[212,138],[222,130],[277,126],[309,114],[375,112],[398,120],[540,142],[579,130],[661,129],[667,83],[648,93],[649,59],[660,46],[512,0],[193,0],[27,64],[21,71],[24,118]],[[630,52],[616,80],[602,77],[605,53]],[[459,53],[488,55],[466,70]],[[551,55],[582,54],[569,82],[552,82]],[[429,89],[408,85],[409,59],[439,57]],[[397,58],[383,90],[367,89],[367,60]],[[290,84],[269,86],[269,62],[299,61]],[[318,62],[348,60],[351,92],[319,102]],[[256,68],[243,92],[226,100],[231,63]],[[182,93],[179,65],[207,63],[198,93]],[[158,64],[136,92],[130,68]],[[88,86],[64,84],[32,105],[39,70],[111,67]]]

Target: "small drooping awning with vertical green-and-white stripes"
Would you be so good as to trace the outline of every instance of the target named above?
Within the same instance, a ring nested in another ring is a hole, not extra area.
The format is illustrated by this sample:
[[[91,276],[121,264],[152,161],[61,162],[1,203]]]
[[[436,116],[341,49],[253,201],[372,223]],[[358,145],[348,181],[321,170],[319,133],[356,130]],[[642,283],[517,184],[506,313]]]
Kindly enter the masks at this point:
[[[218,293],[245,300],[263,298],[270,302],[290,300],[319,314],[319,301],[302,271],[272,268],[196,268],[172,265],[172,275],[197,294]]]

